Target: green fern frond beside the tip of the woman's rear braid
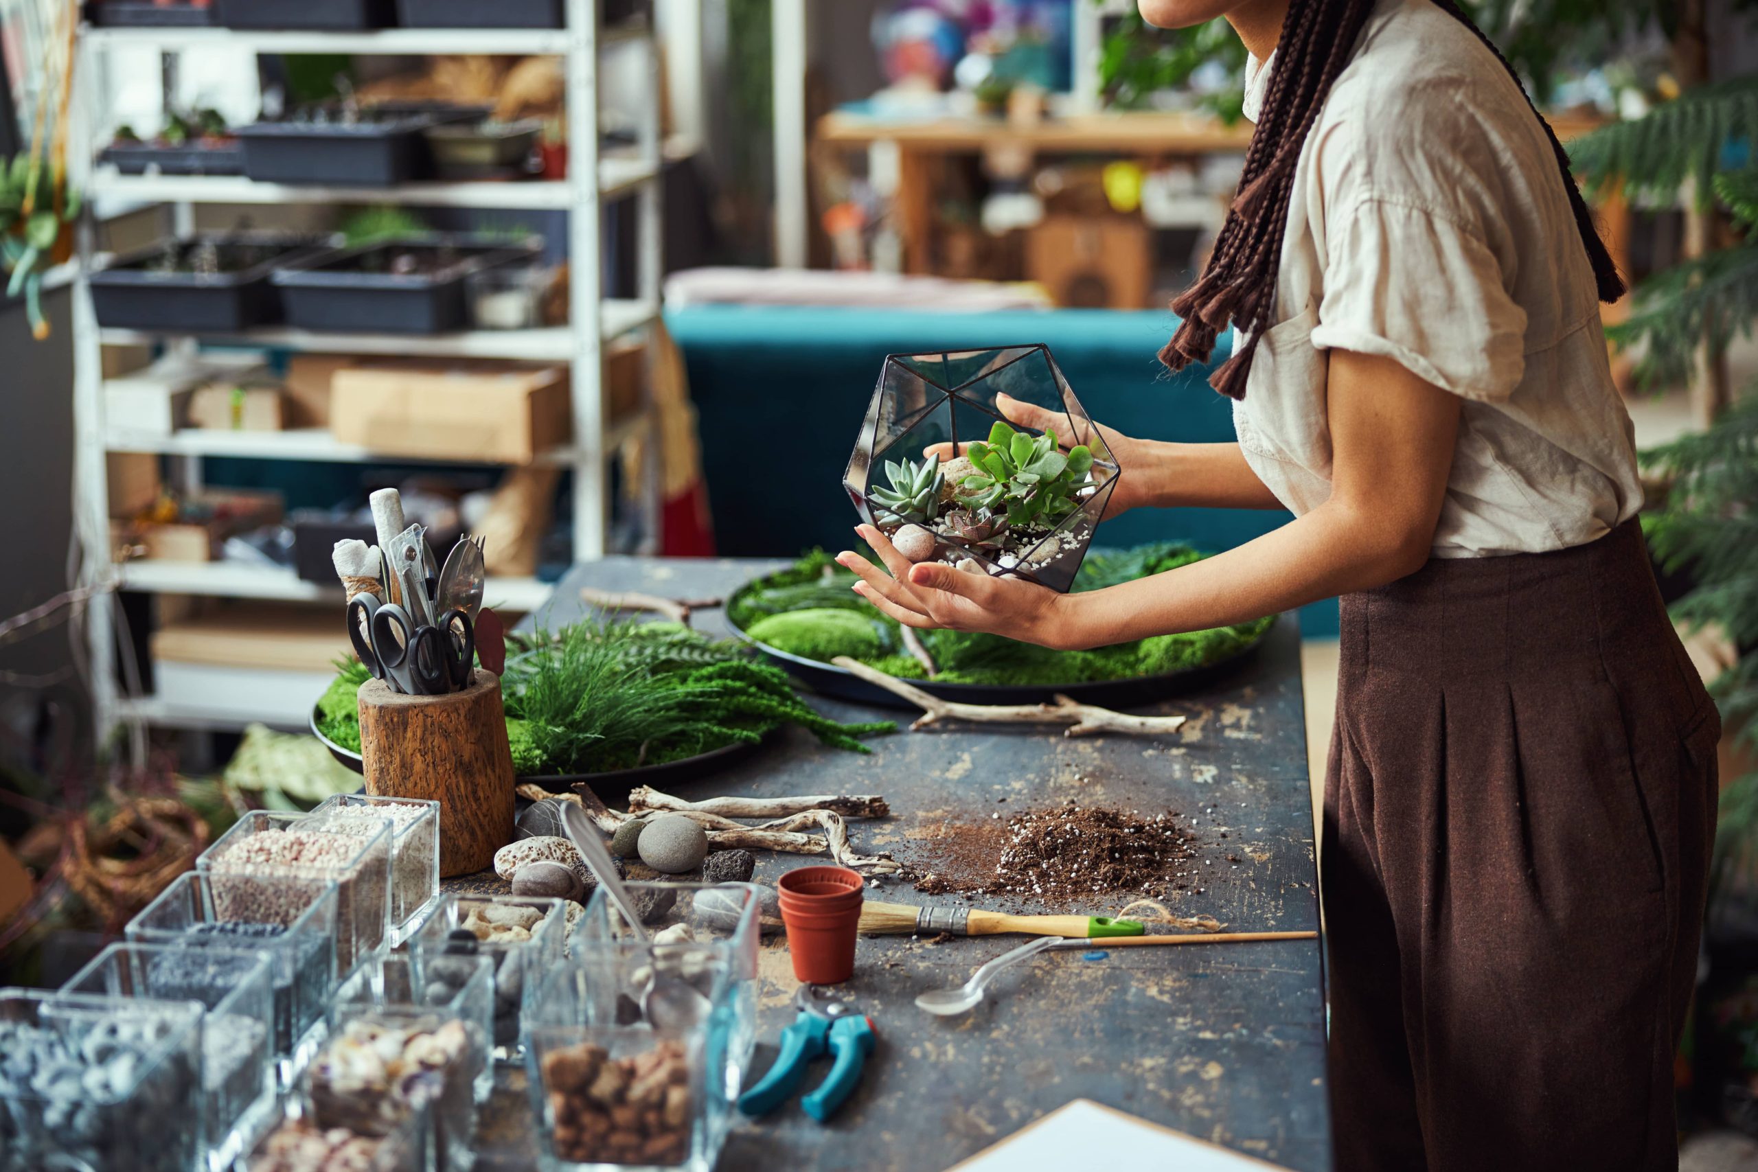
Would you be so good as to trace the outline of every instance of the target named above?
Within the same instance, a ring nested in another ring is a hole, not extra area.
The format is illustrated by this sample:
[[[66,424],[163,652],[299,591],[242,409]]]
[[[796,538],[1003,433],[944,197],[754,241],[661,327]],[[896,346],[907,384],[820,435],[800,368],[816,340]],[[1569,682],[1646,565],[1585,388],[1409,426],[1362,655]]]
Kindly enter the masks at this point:
[[[1707,339],[1721,351],[1758,322],[1758,242],[1726,248],[1658,272],[1635,293],[1630,316],[1607,329],[1619,346],[1645,348],[1635,376],[1644,387],[1682,383]]]

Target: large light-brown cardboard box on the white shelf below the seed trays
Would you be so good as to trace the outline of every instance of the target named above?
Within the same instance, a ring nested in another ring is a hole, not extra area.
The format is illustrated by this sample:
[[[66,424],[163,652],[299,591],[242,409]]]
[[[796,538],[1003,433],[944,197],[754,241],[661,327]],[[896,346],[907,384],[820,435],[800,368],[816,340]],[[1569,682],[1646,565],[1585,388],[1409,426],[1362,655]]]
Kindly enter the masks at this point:
[[[568,443],[568,371],[387,358],[336,371],[331,432],[383,455],[529,464]]]

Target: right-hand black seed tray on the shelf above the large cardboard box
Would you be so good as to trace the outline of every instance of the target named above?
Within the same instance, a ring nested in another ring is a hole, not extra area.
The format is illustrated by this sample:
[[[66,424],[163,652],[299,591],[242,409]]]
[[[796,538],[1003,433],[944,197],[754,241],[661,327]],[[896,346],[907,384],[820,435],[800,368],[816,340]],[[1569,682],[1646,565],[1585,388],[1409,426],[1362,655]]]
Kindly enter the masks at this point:
[[[374,253],[452,248],[457,258],[438,272],[369,272]],[[380,241],[281,269],[274,285],[287,323],[350,334],[450,334],[469,322],[464,278],[529,260],[529,248],[503,242],[418,239]]]

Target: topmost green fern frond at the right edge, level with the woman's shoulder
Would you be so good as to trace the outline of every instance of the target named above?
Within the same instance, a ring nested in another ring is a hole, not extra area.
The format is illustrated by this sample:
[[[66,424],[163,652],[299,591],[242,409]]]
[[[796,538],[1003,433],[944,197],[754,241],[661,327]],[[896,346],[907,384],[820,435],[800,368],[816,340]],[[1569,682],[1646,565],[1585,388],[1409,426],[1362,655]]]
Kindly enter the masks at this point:
[[[1630,195],[1677,193],[1696,181],[1711,199],[1711,176],[1735,142],[1758,139],[1758,76],[1688,90],[1645,116],[1575,139],[1568,156],[1595,190],[1623,184]]]

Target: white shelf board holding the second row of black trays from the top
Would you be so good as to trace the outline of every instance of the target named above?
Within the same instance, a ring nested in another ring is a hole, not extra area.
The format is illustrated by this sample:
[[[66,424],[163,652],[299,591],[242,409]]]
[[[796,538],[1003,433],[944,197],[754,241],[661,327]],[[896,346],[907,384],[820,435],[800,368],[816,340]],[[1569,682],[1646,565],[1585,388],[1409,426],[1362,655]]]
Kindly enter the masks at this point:
[[[638,158],[607,158],[598,165],[598,190],[617,199],[657,174]],[[566,179],[508,183],[404,183],[394,188],[302,186],[257,183],[243,176],[125,176],[114,169],[91,176],[100,199],[137,204],[417,204],[424,207],[494,207],[512,211],[566,211],[573,184]]]

